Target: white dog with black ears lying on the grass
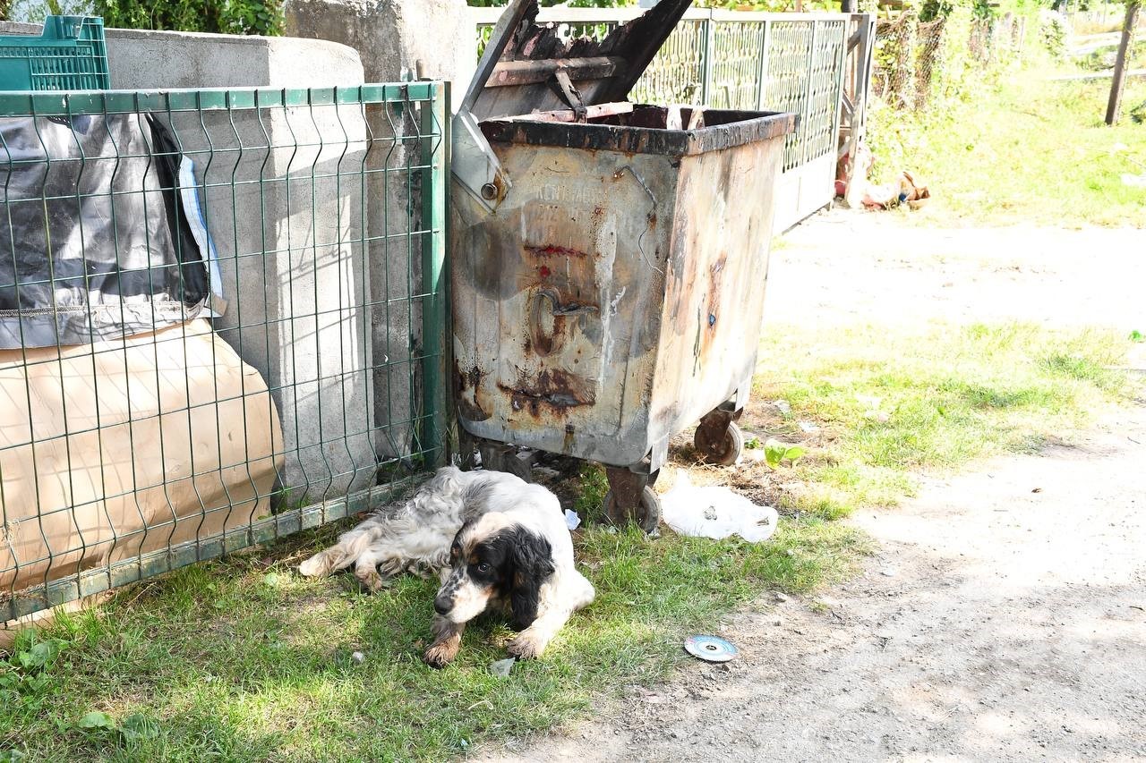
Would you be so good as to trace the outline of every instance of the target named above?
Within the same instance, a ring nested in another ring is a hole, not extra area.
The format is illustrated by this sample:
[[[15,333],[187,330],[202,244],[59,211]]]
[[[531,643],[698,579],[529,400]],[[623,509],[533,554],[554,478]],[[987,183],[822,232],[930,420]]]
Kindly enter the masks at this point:
[[[307,576],[354,565],[368,588],[402,571],[439,572],[433,644],[425,660],[457,655],[465,623],[494,605],[519,631],[508,651],[539,656],[592,584],[573,565],[573,541],[557,496],[504,472],[438,470],[395,510],[382,510],[299,566]],[[379,574],[379,568],[382,574]]]

